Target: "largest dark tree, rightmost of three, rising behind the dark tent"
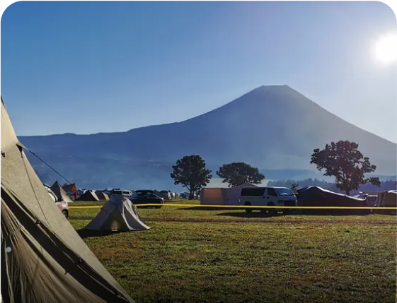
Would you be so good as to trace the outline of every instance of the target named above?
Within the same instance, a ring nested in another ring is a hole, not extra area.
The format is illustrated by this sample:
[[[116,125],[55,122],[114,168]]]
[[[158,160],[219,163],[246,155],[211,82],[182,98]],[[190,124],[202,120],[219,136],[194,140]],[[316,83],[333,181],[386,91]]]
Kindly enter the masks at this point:
[[[359,152],[355,142],[332,142],[323,150],[316,148],[310,163],[315,164],[320,172],[325,170],[324,176],[335,177],[335,185],[347,195],[350,195],[350,191],[358,190],[361,184],[381,186],[377,177],[365,179],[364,174],[374,172],[376,166],[371,165],[369,158]]]

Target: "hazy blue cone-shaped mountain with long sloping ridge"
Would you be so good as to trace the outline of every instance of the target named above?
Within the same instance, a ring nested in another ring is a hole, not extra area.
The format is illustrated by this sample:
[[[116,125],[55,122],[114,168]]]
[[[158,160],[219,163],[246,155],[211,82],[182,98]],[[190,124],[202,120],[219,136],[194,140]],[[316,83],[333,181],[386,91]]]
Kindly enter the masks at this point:
[[[359,143],[359,150],[377,165],[376,174],[397,172],[396,143],[340,119],[288,85],[260,86],[178,123],[20,140],[68,179],[91,187],[168,188],[173,185],[171,165],[191,154],[201,155],[214,170],[225,162],[242,161],[273,172],[299,170],[307,177],[315,170],[309,163],[313,149],[339,140]],[[54,178],[40,162],[33,162],[39,175]]]

